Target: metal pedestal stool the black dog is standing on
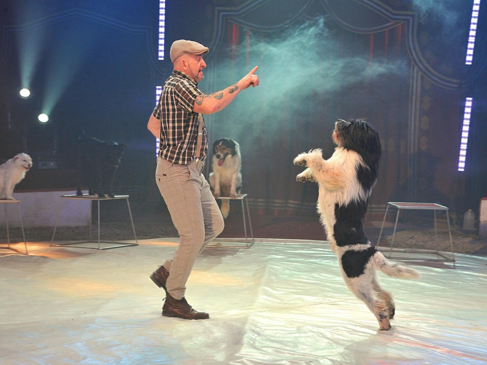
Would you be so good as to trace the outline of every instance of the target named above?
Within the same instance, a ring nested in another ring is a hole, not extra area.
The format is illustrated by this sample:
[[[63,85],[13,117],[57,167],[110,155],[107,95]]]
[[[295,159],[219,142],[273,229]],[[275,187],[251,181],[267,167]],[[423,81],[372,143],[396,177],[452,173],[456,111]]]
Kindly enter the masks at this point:
[[[63,199],[77,199],[77,200],[84,200],[84,201],[90,201],[90,238],[86,241],[71,241],[67,243],[54,243],[54,236],[56,235],[56,227],[57,227],[57,221],[59,220],[59,212],[61,211],[61,206]],[[118,242],[118,241],[101,241],[100,240],[100,201],[107,201],[107,200],[117,200],[117,199],[126,199],[127,200],[127,206],[129,208],[129,215],[130,215],[130,221],[132,223],[132,230],[133,230],[133,237],[135,238],[135,243],[127,243],[127,242]],[[98,198],[93,195],[87,195],[83,194],[82,196],[79,195],[63,195],[61,196],[61,203],[59,204],[59,209],[57,210],[57,218],[56,218],[56,225],[54,226],[54,232],[53,232],[53,238],[51,239],[51,244],[49,246],[51,247],[64,247],[64,246],[71,246],[71,245],[78,245],[81,243],[95,243],[91,240],[92,237],[92,225],[93,225],[93,201],[98,201],[98,247],[83,247],[83,246],[73,246],[76,248],[89,248],[92,250],[111,250],[112,248],[120,248],[120,247],[129,247],[129,246],[138,246],[139,242],[137,241],[137,236],[135,235],[135,227],[133,225],[133,219],[132,219],[132,212],[130,209],[130,203],[129,203],[129,196],[128,195],[115,195],[114,198]],[[100,243],[106,243],[114,246],[105,246],[102,247]]]

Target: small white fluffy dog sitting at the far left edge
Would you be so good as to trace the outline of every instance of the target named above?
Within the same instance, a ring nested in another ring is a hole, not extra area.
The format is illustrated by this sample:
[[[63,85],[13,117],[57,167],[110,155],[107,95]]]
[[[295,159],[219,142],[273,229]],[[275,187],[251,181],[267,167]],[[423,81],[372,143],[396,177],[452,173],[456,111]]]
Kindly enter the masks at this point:
[[[19,153],[0,165],[0,199],[14,200],[14,186],[25,177],[31,167],[32,159],[27,153]]]

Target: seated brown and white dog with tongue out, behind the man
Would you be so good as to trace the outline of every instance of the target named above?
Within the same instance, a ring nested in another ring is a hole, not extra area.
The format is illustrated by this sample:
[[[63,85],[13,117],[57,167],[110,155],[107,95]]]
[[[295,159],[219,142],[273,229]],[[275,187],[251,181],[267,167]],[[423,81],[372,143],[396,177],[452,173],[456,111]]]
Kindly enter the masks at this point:
[[[242,156],[237,142],[230,138],[220,138],[213,143],[213,172],[209,176],[209,183],[215,198],[237,198],[242,188],[241,165]],[[221,210],[223,218],[228,217],[228,199],[222,199]]]

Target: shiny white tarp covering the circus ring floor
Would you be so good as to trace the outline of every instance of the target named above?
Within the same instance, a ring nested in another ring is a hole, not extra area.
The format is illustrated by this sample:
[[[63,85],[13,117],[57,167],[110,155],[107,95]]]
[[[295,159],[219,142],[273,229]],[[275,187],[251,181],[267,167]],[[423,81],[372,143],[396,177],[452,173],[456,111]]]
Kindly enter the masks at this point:
[[[210,319],[161,316],[149,274],[175,239],[107,251],[29,243],[0,257],[0,364],[485,364],[487,257],[408,262],[420,280],[379,274],[390,331],[345,287],[327,243],[206,249],[187,300]]]

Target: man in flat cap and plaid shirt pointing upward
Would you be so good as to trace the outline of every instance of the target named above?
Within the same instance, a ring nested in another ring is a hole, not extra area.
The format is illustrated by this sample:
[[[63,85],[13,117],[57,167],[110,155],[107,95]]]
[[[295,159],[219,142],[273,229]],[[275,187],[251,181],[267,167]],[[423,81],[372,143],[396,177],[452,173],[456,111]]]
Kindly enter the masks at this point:
[[[180,39],[171,45],[174,65],[147,128],[157,138],[156,183],[166,201],[180,242],[172,258],[150,278],[166,291],[162,315],[184,319],[206,319],[208,313],[191,308],[185,299],[185,284],[196,257],[224,228],[220,209],[201,173],[208,137],[202,114],[224,109],[250,85],[259,85],[257,66],[240,81],[224,90],[206,95],[198,89],[208,48]]]

